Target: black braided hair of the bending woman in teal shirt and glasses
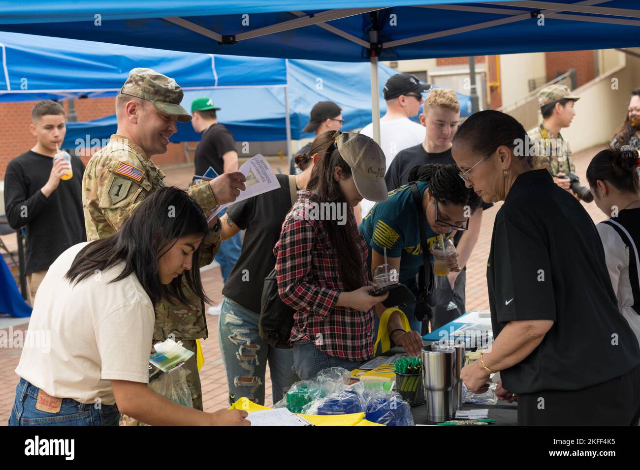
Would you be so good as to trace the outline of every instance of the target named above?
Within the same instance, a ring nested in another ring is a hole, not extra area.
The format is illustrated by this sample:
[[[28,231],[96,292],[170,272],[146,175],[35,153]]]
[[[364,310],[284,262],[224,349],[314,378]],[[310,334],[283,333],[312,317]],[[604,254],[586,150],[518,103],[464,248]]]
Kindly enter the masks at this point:
[[[460,178],[460,170],[455,165],[428,163],[414,166],[409,171],[409,182],[427,181],[428,191],[436,200],[445,205],[469,206],[474,212],[482,202],[476,192],[468,188]]]

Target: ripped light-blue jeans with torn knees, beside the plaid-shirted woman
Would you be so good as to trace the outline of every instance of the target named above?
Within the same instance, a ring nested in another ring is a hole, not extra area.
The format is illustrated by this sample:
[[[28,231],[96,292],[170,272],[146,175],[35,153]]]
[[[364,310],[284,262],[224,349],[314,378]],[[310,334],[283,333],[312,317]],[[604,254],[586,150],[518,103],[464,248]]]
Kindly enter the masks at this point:
[[[264,405],[264,374],[267,361],[271,372],[273,403],[284,396],[284,389],[297,382],[291,349],[269,346],[258,333],[260,314],[223,297],[218,324],[220,352],[227,370],[229,394],[246,396]]]

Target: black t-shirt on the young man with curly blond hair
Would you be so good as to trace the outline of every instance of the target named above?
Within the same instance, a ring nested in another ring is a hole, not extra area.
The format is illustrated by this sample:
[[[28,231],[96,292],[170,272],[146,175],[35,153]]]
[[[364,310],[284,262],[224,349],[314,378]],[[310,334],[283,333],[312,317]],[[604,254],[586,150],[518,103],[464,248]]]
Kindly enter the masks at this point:
[[[385,183],[387,183],[387,191],[393,191],[394,189],[407,184],[409,182],[409,172],[415,166],[426,165],[428,163],[440,163],[444,165],[455,165],[456,161],[451,155],[451,148],[444,152],[427,152],[424,150],[422,144],[414,145],[413,147],[405,148],[397,153],[396,157],[391,161],[387,173],[385,173]],[[493,207],[492,202],[480,203],[480,207],[488,209]],[[458,246],[458,242],[462,238],[463,232],[458,231],[453,237],[455,246]]]

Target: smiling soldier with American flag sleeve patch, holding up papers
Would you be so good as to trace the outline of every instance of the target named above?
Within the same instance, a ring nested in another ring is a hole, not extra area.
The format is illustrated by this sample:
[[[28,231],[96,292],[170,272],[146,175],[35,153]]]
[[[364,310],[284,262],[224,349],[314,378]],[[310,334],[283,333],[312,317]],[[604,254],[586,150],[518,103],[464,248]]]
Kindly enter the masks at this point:
[[[180,106],[181,101],[182,89],[173,79],[150,68],[134,68],[129,73],[116,98],[117,134],[93,155],[83,176],[84,224],[88,241],[116,233],[132,210],[150,192],[164,185],[164,173],[151,157],[166,152],[168,138],[177,130],[175,120],[191,120],[186,109]],[[225,173],[209,184],[191,187],[188,192],[206,212],[218,204],[234,201],[239,190],[244,189],[242,181],[241,173]],[[220,247],[220,221],[209,227],[200,246],[200,266],[211,263]],[[196,339],[208,336],[204,302],[190,292],[186,281],[184,292],[189,305],[174,305],[169,301],[156,305],[154,343],[172,338],[195,352]],[[193,407],[202,410],[195,354],[186,366],[191,371],[187,380]]]

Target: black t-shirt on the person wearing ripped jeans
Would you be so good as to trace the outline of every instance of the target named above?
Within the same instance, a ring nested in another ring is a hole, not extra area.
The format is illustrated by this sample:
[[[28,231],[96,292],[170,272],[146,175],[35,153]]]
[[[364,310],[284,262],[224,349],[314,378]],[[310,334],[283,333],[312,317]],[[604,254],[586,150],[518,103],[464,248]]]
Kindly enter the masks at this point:
[[[264,278],[276,264],[273,247],[280,239],[282,224],[291,209],[289,176],[276,175],[276,178],[280,189],[240,201],[227,210],[229,219],[246,232],[240,257],[222,294],[255,313],[260,313]]]

